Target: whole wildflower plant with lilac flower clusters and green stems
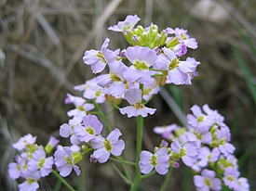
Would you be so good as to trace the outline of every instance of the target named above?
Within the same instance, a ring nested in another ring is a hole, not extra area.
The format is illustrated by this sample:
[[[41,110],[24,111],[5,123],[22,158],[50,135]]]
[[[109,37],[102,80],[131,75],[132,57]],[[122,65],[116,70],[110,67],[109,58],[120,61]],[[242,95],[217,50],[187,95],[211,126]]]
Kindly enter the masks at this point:
[[[196,190],[221,190],[223,186],[237,191],[249,190],[248,180],[240,177],[238,171],[229,127],[222,115],[208,105],[193,106],[185,126],[156,126],[154,132],[161,135],[163,141],[155,150],[141,150],[144,118],[157,112],[156,108],[147,107],[148,102],[162,85],[192,84],[200,62],[186,57],[188,48],[197,48],[195,38],[187,31],[167,28],[159,32],[155,24],[135,27],[139,20],[137,15],[128,16],[109,27],[123,34],[129,44],[126,49],[109,49],[110,39],[106,38],[101,50],[85,52],[83,61],[96,76],[74,86],[82,96],[66,96],[65,103],[73,104],[74,109],[67,112],[70,120],[61,125],[60,135],[69,138],[70,146],[58,145],[59,140],[54,137],[47,146],[38,146],[31,134],[13,144],[19,154],[16,161],[9,164],[8,172],[11,178],[23,180],[20,190],[37,190],[38,181],[50,173],[67,189],[74,190],[63,177],[73,171],[79,176],[79,163],[84,158],[93,163],[109,159],[121,163],[122,169],[115,168],[115,171],[131,191],[139,190],[142,179],[155,173],[169,176],[173,168],[178,169],[182,164],[195,172]],[[119,107],[120,100],[124,100],[125,107]],[[126,146],[122,127],[112,127],[109,123],[108,115],[101,110],[105,101],[110,101],[122,115],[137,119],[133,161],[122,157]],[[134,168],[133,173],[128,166]]]

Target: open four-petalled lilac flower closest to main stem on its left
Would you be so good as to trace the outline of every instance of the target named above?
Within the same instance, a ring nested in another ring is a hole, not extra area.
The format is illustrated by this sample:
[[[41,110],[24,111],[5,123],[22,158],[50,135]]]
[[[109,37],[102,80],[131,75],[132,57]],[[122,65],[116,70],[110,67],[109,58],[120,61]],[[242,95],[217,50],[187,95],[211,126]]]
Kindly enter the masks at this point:
[[[91,140],[91,146],[96,149],[91,159],[99,161],[100,163],[106,162],[110,154],[114,156],[120,156],[125,149],[125,142],[119,139],[122,135],[120,130],[115,128],[106,138],[97,136]]]

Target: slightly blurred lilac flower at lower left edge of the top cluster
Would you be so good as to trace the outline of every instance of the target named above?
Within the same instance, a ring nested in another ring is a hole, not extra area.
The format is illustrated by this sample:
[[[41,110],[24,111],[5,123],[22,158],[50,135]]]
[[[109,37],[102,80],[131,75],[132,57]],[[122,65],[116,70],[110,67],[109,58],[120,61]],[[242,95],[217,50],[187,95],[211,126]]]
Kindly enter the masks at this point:
[[[74,86],[77,91],[84,92],[83,96],[87,99],[95,99],[96,103],[103,103],[105,101],[104,89],[98,85],[96,78],[87,81],[84,84]]]

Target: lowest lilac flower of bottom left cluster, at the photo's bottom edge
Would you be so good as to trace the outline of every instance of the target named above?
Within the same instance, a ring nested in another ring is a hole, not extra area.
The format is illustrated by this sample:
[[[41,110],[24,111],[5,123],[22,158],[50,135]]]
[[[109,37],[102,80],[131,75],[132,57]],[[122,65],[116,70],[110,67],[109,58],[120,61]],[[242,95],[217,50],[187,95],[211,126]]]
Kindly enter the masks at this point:
[[[23,174],[25,182],[19,185],[20,191],[35,191],[39,188],[37,181],[40,179],[39,172],[27,172]]]

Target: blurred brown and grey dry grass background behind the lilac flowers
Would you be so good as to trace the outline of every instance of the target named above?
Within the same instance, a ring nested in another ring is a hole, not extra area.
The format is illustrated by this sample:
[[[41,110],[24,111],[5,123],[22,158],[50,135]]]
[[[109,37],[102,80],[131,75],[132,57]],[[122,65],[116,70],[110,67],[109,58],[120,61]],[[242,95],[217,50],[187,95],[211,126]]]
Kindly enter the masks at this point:
[[[145,121],[143,148],[153,150],[160,137],[156,125],[177,122],[194,104],[218,109],[231,129],[242,176],[256,190],[256,1],[255,0],[0,0],[0,185],[16,190],[7,175],[13,161],[12,144],[20,135],[34,134],[39,144],[68,121],[64,105],[74,84],[93,77],[82,61],[87,49],[99,49],[106,37],[110,48],[125,48],[121,33],[107,30],[128,14],[139,24],[151,22],[159,30],[184,28],[198,49],[189,57],[201,62],[192,86],[166,86],[150,105],[157,108]],[[108,104],[103,106],[108,110]],[[123,132],[125,158],[134,160],[136,123],[115,112],[113,125]],[[68,141],[61,138],[61,144]],[[113,162],[81,164],[81,177],[68,181],[77,190],[128,190],[116,175]],[[187,168],[172,172],[167,190],[195,190]],[[158,190],[162,176],[142,182],[144,190]],[[54,176],[40,182],[41,190],[58,190]],[[64,190],[64,188],[62,188]]]

